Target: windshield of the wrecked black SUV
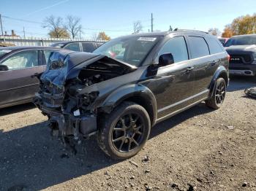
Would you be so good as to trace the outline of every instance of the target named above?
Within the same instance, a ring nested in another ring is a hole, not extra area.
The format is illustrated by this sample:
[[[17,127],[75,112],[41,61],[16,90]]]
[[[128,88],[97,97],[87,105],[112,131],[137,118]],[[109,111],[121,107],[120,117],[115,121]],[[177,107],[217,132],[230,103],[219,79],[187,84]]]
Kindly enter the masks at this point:
[[[140,66],[148,53],[159,41],[157,36],[128,36],[102,44],[93,53],[106,55],[133,66]]]

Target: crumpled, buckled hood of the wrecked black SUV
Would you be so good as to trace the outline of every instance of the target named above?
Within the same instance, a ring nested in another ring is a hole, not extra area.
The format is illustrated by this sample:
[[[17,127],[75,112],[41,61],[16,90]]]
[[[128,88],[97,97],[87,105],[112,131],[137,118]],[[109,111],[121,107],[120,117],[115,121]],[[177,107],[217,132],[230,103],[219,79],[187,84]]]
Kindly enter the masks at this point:
[[[102,58],[108,57],[88,52],[53,52],[52,55],[50,55],[46,71],[41,75],[40,80],[41,82],[50,82],[57,87],[62,87],[66,79],[77,77],[81,68],[86,68],[86,66]],[[124,70],[137,69],[137,67],[129,65],[128,63],[116,61],[112,58],[108,59],[118,63]]]

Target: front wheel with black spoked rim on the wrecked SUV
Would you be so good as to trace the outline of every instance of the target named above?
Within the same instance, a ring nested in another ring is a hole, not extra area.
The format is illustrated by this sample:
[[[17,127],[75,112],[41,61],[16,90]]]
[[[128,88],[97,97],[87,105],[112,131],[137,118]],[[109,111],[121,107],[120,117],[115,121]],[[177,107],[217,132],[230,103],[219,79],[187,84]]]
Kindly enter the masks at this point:
[[[148,140],[151,121],[143,106],[125,101],[101,122],[97,141],[110,157],[124,160],[136,155]]]

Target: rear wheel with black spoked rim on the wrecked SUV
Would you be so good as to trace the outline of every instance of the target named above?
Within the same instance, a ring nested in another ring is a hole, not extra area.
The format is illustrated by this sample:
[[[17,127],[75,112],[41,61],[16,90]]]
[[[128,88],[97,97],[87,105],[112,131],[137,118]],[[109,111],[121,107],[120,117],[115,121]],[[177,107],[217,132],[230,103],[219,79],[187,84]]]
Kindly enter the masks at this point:
[[[227,86],[225,79],[222,77],[218,78],[211,99],[206,100],[206,106],[212,109],[219,109],[225,100],[226,88]]]

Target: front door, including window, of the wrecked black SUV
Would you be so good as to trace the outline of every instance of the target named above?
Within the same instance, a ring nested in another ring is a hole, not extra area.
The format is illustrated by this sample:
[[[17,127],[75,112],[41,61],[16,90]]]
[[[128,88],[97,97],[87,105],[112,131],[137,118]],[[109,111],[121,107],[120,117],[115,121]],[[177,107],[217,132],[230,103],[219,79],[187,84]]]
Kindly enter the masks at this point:
[[[165,42],[155,61],[158,63],[159,55],[165,53],[173,55],[173,64],[159,66],[157,69],[148,68],[149,73],[155,73],[154,78],[150,79],[147,86],[157,99],[158,118],[172,114],[192,103],[192,99],[190,99],[192,91],[190,89],[194,86],[193,66],[189,61],[184,36],[176,36]]]

